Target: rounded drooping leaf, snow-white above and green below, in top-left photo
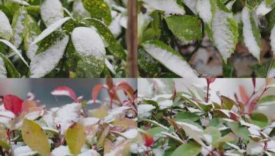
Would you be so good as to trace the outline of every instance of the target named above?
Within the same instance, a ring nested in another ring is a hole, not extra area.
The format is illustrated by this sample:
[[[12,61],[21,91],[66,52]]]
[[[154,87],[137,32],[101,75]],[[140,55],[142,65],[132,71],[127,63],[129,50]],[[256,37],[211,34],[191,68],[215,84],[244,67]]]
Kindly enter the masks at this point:
[[[98,77],[105,65],[104,43],[93,28],[78,27],[71,34],[74,47],[81,57],[77,65],[79,77]]]

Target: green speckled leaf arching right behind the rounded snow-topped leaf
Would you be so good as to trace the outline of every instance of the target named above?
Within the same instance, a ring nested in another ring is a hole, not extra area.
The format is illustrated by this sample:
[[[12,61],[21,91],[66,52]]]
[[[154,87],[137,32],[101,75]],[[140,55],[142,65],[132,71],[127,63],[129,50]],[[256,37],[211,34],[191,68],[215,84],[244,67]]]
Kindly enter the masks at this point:
[[[85,20],[87,24],[93,26],[97,29],[98,33],[104,38],[108,43],[107,49],[116,57],[126,60],[126,53],[123,47],[116,41],[115,36],[112,34],[111,30],[104,25],[101,21],[95,18],[87,18]]]

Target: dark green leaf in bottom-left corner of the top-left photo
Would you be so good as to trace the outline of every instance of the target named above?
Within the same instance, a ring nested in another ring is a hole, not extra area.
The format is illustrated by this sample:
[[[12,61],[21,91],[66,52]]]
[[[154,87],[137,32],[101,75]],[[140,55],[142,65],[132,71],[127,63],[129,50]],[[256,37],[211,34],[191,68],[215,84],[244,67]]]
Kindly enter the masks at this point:
[[[8,57],[5,56],[2,53],[0,53],[0,56],[2,57],[2,59],[3,59],[4,63],[5,63],[5,66],[6,66],[6,69],[7,69],[7,77],[10,77],[10,78],[20,78],[21,77],[20,73],[13,66],[13,64],[8,59]]]

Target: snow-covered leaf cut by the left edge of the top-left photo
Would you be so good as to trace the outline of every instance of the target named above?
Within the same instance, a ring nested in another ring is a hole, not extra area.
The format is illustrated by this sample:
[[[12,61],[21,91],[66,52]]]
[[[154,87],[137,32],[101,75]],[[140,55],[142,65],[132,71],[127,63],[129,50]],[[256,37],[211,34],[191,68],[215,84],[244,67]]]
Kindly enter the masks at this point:
[[[6,14],[0,10],[0,38],[4,38],[5,40],[10,40],[12,36],[12,29],[9,23],[9,19]]]

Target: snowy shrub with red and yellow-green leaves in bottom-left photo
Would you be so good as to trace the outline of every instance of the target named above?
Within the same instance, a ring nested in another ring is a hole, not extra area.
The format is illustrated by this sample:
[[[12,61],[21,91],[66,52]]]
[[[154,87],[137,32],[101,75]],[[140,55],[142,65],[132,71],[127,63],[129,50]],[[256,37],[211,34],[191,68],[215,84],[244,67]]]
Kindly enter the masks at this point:
[[[107,82],[103,85],[106,88],[117,88],[109,100],[99,101],[94,96],[84,101],[71,88],[60,86],[51,94],[69,96],[72,103],[50,109],[35,100],[34,93],[27,100],[4,95],[0,103],[0,155],[137,155],[137,91],[126,82]],[[117,95],[120,89],[126,99]],[[95,103],[100,107],[87,108]]]

